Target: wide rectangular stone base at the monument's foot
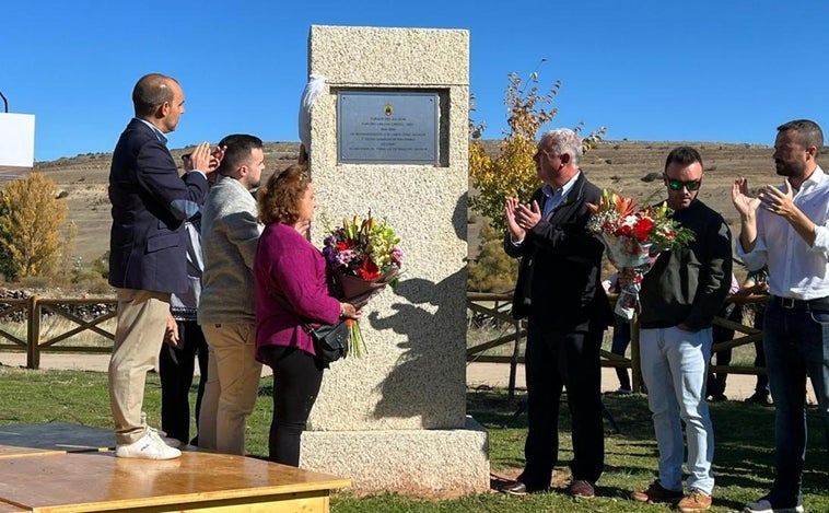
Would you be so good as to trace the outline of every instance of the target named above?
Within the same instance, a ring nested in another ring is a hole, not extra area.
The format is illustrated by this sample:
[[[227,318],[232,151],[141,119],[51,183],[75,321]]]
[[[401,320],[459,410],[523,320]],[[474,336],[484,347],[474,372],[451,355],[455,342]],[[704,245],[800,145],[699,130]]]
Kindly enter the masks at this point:
[[[358,493],[460,495],[489,490],[487,430],[305,431],[302,468],[348,476]]]

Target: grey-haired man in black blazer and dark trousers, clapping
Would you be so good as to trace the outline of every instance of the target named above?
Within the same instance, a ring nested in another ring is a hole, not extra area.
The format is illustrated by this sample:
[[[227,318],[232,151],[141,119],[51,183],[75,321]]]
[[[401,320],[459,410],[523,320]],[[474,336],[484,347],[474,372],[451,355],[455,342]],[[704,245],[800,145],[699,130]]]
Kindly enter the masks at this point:
[[[586,203],[602,191],[579,168],[582,141],[569,129],[546,132],[534,155],[544,186],[530,203],[509,198],[504,249],[521,257],[513,316],[528,317],[525,467],[504,487],[523,495],[550,487],[558,462],[558,418],[567,388],[574,457],[568,492],[595,495],[604,467],[599,350],[612,312],[602,287],[604,246],[585,228]]]

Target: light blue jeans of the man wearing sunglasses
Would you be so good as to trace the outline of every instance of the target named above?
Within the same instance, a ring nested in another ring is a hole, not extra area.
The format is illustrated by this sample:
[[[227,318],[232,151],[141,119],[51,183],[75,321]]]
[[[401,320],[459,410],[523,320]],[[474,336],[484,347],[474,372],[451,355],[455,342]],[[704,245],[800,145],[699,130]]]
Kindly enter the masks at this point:
[[[711,494],[714,489],[714,430],[705,403],[711,328],[685,331],[677,327],[642,329],[639,335],[642,377],[659,450],[659,483],[682,490],[685,443],[688,443],[688,488]]]

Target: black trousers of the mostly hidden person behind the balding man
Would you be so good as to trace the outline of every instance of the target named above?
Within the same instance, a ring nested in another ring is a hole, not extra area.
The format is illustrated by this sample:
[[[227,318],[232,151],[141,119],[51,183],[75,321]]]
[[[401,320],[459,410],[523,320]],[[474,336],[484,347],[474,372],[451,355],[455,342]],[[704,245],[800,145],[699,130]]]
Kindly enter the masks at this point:
[[[198,443],[199,410],[205,395],[208,368],[208,346],[201,326],[195,320],[178,322],[178,338],[182,347],[163,343],[159,354],[161,378],[161,429],[167,436],[183,443]],[[190,387],[199,359],[199,389],[196,394],[196,438],[190,440]]]

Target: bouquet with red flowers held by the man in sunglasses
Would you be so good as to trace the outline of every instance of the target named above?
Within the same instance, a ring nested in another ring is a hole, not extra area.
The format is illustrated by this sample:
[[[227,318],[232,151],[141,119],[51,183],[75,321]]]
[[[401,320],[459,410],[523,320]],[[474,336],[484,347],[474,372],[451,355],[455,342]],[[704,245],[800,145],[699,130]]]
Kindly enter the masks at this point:
[[[616,313],[632,319],[639,308],[642,277],[659,253],[686,246],[694,234],[672,219],[674,211],[663,202],[637,209],[631,198],[602,193],[598,205],[587,203],[593,215],[587,229],[602,240],[610,264],[619,270],[621,291]]]

